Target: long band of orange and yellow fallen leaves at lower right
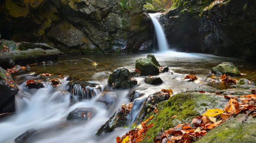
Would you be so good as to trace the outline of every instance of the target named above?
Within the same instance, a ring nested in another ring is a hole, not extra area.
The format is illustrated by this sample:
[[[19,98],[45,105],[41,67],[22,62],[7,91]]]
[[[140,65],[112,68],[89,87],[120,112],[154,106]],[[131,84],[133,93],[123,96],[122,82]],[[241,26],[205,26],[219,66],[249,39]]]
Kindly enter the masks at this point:
[[[154,143],[191,143],[207,134],[207,130],[219,126],[224,121],[244,113],[238,121],[246,121],[256,117],[256,95],[242,95],[240,98],[233,95],[226,95],[230,98],[229,104],[224,110],[219,108],[208,109],[202,116],[192,119],[192,124],[184,123],[165,130],[161,136],[154,138]]]

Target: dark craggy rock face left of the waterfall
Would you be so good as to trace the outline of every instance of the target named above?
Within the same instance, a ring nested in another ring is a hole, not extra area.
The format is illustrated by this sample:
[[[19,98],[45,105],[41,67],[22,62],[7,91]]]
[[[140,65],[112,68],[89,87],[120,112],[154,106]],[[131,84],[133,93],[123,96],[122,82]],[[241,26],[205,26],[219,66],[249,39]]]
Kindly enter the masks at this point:
[[[5,0],[1,38],[43,42],[71,54],[135,52],[152,37],[144,4],[146,0]]]

